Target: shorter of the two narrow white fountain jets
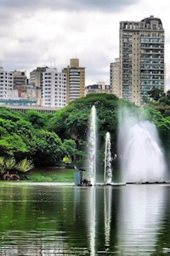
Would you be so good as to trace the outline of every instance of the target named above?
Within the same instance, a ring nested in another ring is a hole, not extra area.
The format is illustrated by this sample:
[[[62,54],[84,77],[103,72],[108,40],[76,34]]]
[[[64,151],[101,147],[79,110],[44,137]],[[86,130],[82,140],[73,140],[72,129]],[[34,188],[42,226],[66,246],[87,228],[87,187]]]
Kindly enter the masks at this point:
[[[111,184],[112,181],[112,170],[111,170],[111,134],[107,132],[105,134],[105,173],[104,173],[104,184]]]

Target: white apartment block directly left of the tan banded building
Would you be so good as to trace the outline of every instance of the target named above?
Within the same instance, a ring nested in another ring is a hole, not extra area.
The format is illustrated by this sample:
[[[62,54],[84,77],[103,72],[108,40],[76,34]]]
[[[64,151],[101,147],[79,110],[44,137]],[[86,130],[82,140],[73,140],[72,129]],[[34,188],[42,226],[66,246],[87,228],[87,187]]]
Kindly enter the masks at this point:
[[[42,106],[61,108],[66,105],[66,75],[56,68],[42,73]]]

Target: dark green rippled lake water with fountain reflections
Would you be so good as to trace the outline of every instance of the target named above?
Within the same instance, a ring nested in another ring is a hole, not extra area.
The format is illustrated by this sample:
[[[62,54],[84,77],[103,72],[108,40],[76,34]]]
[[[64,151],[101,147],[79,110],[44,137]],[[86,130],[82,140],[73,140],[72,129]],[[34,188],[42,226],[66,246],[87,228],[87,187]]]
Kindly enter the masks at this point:
[[[0,255],[170,255],[170,186],[0,183]]]

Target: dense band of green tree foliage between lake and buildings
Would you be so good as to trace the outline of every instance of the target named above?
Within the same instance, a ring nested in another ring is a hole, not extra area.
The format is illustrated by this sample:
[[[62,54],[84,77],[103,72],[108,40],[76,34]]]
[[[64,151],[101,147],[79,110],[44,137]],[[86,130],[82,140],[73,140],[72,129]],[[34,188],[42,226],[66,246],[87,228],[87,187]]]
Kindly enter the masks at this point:
[[[156,100],[145,105],[144,111],[147,118],[155,122],[161,143],[170,156],[170,93],[164,95],[153,91],[150,94]],[[79,162],[82,166],[93,105],[97,110],[99,157],[103,157],[106,132],[111,134],[112,151],[116,153],[120,108],[141,109],[125,100],[118,100],[113,94],[89,94],[53,115],[37,111],[22,114],[0,108],[0,156],[13,157],[16,162],[27,158],[35,166],[63,165],[68,163],[65,159],[70,159],[72,165]]]

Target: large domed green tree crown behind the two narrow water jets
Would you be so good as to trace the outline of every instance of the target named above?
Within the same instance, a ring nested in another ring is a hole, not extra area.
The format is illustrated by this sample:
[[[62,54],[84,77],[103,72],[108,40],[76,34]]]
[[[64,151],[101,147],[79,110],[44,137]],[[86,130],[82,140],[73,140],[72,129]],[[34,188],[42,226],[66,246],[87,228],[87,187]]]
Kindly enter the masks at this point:
[[[114,94],[89,94],[74,100],[65,109],[57,111],[48,125],[48,130],[59,134],[61,139],[75,139],[78,146],[87,139],[88,119],[93,105],[98,113],[99,128],[104,136],[107,128],[114,130],[117,124],[117,98]]]

